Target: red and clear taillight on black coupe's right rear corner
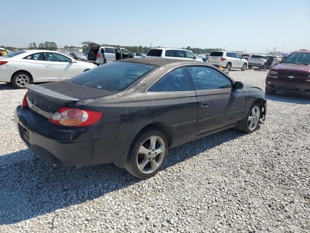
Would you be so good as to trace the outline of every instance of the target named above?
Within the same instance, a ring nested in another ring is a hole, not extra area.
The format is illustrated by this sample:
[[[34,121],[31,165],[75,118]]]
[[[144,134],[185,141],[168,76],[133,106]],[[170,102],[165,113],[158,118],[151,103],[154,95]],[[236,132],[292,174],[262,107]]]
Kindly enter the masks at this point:
[[[90,110],[61,108],[48,121],[56,125],[81,127],[98,123],[102,115],[101,112]]]

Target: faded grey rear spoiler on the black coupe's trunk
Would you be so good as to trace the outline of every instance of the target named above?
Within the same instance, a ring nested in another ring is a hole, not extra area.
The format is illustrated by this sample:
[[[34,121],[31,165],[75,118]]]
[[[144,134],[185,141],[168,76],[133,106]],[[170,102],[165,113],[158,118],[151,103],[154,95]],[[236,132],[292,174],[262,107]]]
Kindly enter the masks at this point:
[[[25,85],[25,87],[27,88],[27,90],[29,90],[29,91],[37,94],[37,95],[48,97],[48,98],[56,100],[56,101],[61,101],[61,102],[65,102],[65,103],[79,101],[78,99],[72,98],[70,96],[62,95],[60,93],[46,89],[46,88],[39,86],[39,85],[27,84],[27,85]]]

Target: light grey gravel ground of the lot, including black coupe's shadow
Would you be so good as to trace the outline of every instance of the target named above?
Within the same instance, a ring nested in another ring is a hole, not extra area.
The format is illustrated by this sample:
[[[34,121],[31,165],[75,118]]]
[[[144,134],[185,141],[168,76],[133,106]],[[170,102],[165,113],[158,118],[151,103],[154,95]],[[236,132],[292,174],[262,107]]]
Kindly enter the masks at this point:
[[[266,71],[232,70],[264,88]],[[171,149],[138,180],[113,164],[52,167],[21,142],[25,90],[0,83],[0,232],[310,232],[310,99],[267,96],[251,134],[217,133]]]

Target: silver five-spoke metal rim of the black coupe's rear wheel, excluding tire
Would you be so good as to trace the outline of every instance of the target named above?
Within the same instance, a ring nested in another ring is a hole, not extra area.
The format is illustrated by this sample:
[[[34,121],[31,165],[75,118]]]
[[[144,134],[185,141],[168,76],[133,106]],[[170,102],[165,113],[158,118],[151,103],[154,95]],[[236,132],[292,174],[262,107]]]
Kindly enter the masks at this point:
[[[166,145],[160,136],[150,136],[141,145],[137,153],[137,167],[140,172],[154,172],[164,161]]]

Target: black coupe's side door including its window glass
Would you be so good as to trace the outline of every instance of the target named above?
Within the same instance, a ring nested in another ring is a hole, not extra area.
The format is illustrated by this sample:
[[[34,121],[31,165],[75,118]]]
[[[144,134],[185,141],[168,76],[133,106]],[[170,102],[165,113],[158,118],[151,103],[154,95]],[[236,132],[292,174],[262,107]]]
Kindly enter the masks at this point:
[[[188,67],[197,94],[197,134],[231,125],[242,119],[245,95],[233,82],[212,67]]]

